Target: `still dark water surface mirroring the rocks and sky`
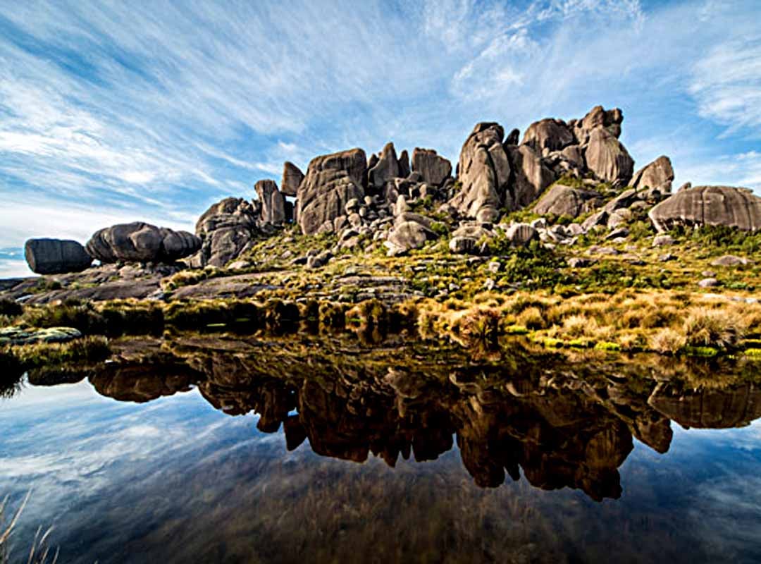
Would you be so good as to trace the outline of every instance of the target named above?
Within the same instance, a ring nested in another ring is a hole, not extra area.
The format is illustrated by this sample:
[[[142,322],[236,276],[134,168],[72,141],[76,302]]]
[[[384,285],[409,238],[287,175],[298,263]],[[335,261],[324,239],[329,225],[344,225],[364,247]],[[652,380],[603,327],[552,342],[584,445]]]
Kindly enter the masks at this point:
[[[216,339],[29,379],[16,556],[53,524],[61,562],[761,562],[753,365]]]

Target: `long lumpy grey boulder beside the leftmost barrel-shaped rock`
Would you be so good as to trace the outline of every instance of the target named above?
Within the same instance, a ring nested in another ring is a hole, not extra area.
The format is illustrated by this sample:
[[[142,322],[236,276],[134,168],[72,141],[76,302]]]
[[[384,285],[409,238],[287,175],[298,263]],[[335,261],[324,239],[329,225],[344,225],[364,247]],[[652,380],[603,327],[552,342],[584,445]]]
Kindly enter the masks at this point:
[[[101,263],[173,263],[196,253],[201,248],[201,239],[187,231],[135,221],[96,231],[86,248]]]

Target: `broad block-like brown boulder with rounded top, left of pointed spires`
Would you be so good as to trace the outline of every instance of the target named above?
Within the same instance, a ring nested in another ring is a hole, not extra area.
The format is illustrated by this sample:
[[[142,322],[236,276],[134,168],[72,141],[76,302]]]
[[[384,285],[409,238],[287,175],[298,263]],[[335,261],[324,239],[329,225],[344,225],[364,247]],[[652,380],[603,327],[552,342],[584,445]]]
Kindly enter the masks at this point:
[[[297,194],[298,224],[304,234],[315,234],[326,221],[343,215],[350,199],[365,197],[366,167],[360,148],[312,159]]]

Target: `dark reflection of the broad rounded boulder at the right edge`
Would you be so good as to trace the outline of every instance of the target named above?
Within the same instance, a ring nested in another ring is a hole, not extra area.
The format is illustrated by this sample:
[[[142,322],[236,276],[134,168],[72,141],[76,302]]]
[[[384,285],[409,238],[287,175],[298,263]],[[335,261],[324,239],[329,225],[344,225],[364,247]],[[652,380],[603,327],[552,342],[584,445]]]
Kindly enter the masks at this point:
[[[680,392],[661,383],[648,403],[685,428],[743,427],[761,417],[761,389],[754,384],[724,390]]]

